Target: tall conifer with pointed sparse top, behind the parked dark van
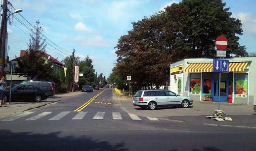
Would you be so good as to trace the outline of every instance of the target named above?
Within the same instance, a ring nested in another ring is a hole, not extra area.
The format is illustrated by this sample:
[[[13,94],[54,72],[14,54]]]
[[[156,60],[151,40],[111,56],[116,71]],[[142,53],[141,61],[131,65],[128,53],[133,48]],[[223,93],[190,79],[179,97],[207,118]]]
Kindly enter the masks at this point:
[[[18,61],[18,67],[16,72],[21,76],[31,77],[31,79],[38,80],[53,80],[53,68],[52,62],[44,57],[45,52],[45,39],[42,36],[42,27],[39,26],[40,22],[36,22],[33,33],[30,34],[30,40],[26,54],[20,58],[16,58]]]

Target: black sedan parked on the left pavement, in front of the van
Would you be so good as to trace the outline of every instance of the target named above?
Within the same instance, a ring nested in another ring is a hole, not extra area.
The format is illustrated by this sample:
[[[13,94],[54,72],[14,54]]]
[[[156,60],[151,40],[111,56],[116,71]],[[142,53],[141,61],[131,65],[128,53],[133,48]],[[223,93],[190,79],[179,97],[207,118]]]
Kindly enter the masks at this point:
[[[10,86],[4,92],[3,101],[8,102],[10,96]],[[33,100],[40,102],[47,99],[47,91],[43,91],[33,86],[13,85],[11,88],[11,101]]]

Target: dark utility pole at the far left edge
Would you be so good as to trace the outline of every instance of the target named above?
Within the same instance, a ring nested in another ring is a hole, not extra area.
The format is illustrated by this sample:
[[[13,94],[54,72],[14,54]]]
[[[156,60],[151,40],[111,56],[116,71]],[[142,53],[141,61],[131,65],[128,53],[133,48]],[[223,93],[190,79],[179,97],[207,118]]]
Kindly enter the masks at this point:
[[[1,33],[0,33],[0,49],[1,49],[1,75],[5,76],[5,40],[7,32],[7,0],[3,0],[2,5],[2,22],[1,22]]]

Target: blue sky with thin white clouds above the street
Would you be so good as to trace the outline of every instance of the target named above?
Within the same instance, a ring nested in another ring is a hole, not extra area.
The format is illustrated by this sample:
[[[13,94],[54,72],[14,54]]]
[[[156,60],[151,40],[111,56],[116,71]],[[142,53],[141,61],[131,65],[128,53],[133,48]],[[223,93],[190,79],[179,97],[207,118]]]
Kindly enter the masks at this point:
[[[89,56],[95,71],[108,77],[115,66],[114,47],[122,35],[132,29],[132,22],[164,10],[180,0],[8,0],[32,25],[40,21],[43,35],[63,49],[50,46],[46,52],[58,60],[75,55],[84,60]],[[243,23],[240,45],[248,52],[256,52],[256,0],[223,0],[230,7],[232,17]],[[32,27],[19,14],[14,14],[27,27]],[[30,31],[16,19],[8,25],[8,56],[20,56],[27,49]],[[53,44],[51,44],[53,45]],[[54,46],[54,45],[53,45]],[[55,46],[56,47],[56,46]]]

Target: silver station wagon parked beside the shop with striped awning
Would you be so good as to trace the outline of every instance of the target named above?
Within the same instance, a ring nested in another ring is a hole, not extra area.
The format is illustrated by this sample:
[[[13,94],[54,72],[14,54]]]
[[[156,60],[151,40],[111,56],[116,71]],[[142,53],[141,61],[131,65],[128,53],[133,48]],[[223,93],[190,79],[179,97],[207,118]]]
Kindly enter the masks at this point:
[[[137,91],[133,97],[133,105],[142,109],[155,110],[161,106],[181,106],[188,108],[193,104],[190,97],[180,96],[168,90]]]

